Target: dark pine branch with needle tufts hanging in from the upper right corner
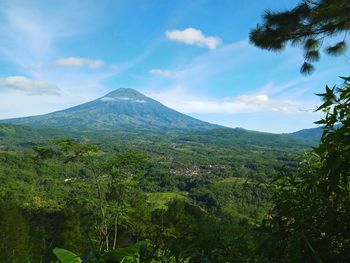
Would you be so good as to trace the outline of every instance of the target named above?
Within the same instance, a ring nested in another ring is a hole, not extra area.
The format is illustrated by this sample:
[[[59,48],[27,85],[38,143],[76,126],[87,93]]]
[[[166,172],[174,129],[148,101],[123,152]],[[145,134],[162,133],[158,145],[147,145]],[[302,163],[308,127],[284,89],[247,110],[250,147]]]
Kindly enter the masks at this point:
[[[320,59],[325,39],[344,33],[344,40],[325,49],[326,54],[339,56],[347,50],[346,35],[350,30],[348,0],[301,1],[283,12],[266,11],[263,24],[250,32],[250,41],[263,49],[280,51],[288,42],[304,49],[305,62],[300,71],[314,71],[312,62]]]

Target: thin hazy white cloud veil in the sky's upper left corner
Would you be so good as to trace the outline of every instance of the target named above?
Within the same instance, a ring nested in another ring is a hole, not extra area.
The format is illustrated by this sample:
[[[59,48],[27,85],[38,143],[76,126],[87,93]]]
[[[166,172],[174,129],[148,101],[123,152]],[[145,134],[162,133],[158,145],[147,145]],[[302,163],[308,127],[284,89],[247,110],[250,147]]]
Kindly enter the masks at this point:
[[[73,12],[73,4],[67,7],[50,10],[39,2],[2,1],[0,53],[23,70],[47,63],[57,52],[57,41],[82,28],[83,12]]]

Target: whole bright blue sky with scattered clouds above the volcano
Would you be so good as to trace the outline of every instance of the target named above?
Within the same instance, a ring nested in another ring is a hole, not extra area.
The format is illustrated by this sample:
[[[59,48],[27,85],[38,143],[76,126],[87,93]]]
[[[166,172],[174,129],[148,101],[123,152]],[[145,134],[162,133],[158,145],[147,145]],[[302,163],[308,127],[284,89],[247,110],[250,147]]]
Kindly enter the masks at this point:
[[[43,114],[128,87],[201,120],[267,132],[313,127],[314,93],[350,61],[248,41],[266,9],[293,0],[0,2],[0,119]],[[334,41],[329,40],[329,44]],[[327,44],[327,43],[325,43]]]

